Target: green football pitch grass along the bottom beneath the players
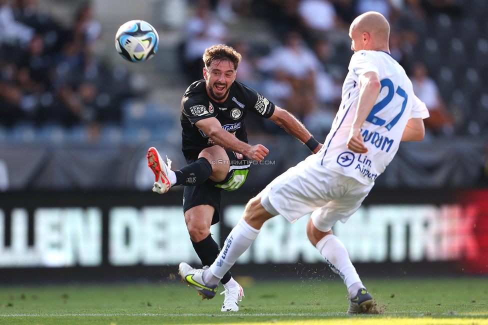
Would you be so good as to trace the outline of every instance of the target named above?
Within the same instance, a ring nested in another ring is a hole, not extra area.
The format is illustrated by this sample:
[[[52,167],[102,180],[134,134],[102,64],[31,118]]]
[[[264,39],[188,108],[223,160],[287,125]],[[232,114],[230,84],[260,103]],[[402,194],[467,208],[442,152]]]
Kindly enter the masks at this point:
[[[0,324],[488,324],[488,277],[364,278],[382,313],[352,316],[340,278],[238,280],[245,297],[231,313],[179,277],[2,285]]]

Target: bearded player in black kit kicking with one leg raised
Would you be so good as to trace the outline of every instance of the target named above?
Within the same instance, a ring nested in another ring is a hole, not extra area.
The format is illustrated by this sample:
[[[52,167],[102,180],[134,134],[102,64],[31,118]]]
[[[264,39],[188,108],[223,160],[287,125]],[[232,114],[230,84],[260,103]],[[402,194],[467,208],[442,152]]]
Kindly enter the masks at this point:
[[[193,248],[203,265],[219,253],[210,225],[220,218],[220,192],[235,190],[245,181],[250,160],[261,161],[269,150],[247,143],[244,117],[248,112],[269,118],[316,153],[321,144],[288,111],[275,106],[254,89],[235,81],[241,56],[232,47],[214,45],[203,53],[203,79],[193,82],[181,99],[182,151],[188,163],[171,170],[154,147],[147,152],[155,175],[153,191],[165,193],[183,185],[183,213]],[[188,279],[187,279],[188,280]],[[189,279],[191,281],[191,279]],[[221,279],[225,298],[221,311],[237,311],[244,296],[230,272]]]

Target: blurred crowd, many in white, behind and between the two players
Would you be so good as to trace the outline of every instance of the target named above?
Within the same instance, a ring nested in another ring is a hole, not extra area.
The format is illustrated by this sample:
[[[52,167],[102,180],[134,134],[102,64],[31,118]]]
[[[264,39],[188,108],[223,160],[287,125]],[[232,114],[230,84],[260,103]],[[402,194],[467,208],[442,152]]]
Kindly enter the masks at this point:
[[[341,85],[352,55],[349,25],[358,14],[373,10],[381,12],[390,22],[391,55],[410,74],[417,96],[431,111],[425,123],[429,134],[451,135],[468,123],[458,118],[459,112],[454,118],[457,107],[445,104],[447,98],[442,98],[432,77],[440,67],[429,71],[421,54],[432,21],[435,25],[443,17],[457,19],[468,14],[464,10],[466,4],[460,5],[462,1],[197,0],[193,3],[196,14],[188,18],[181,55],[188,82],[201,78],[201,52],[205,47],[228,43],[242,54],[237,80],[292,112],[314,134],[325,134],[340,102]],[[265,43],[229,39],[231,25],[248,17],[267,22],[272,39]],[[280,132],[274,124],[258,119],[249,126],[251,131]]]

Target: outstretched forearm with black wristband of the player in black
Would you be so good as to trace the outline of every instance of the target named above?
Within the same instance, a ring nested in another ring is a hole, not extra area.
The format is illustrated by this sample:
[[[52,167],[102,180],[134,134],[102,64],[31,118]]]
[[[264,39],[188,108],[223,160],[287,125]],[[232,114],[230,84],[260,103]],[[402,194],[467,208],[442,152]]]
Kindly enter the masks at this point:
[[[322,144],[315,139],[312,139],[313,136],[311,135],[311,133],[289,111],[275,106],[274,112],[271,117],[269,117],[269,119],[284,128],[286,132],[293,135],[301,142],[307,144],[308,148],[313,153],[317,153],[318,150],[320,150],[320,148],[322,147]]]

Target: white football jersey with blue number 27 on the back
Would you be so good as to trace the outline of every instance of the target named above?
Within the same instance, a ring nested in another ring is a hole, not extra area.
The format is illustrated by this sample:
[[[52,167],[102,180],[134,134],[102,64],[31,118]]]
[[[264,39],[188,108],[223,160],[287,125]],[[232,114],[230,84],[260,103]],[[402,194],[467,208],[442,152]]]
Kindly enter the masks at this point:
[[[362,124],[361,134],[366,153],[355,153],[346,146],[359,98],[359,78],[376,72],[381,90]],[[320,163],[363,184],[373,182],[393,159],[409,118],[428,117],[425,104],[413,93],[405,70],[390,54],[360,50],[349,63],[349,72],[342,85],[342,100],[325,138]]]

